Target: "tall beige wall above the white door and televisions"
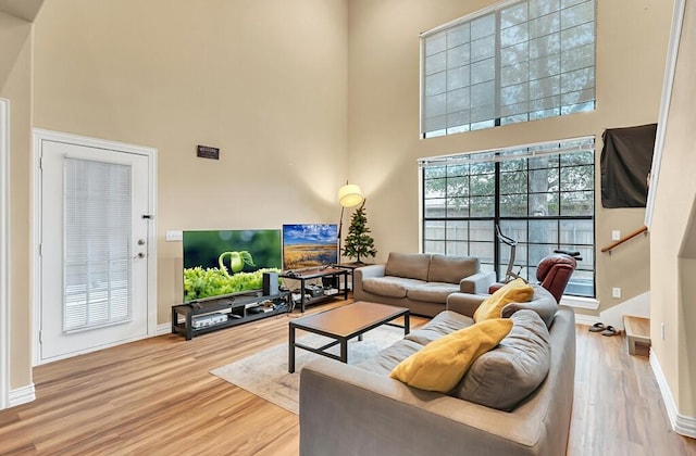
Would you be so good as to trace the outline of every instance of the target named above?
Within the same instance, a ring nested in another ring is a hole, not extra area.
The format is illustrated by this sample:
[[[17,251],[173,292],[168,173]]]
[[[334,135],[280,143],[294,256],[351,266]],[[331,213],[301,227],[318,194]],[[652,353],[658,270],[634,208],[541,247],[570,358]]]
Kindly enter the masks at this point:
[[[46,2],[34,125],[159,151],[158,322],[183,295],[166,230],[337,221],[347,59],[343,0]]]

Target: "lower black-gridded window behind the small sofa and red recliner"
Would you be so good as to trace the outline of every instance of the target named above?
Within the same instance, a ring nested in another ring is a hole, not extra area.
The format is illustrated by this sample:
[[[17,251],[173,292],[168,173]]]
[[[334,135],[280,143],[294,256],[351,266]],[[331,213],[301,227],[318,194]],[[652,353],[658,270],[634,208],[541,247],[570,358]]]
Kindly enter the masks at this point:
[[[534,281],[554,250],[582,261],[567,294],[595,296],[595,140],[593,137],[421,160],[423,251],[477,257],[502,280],[518,241],[514,271]]]

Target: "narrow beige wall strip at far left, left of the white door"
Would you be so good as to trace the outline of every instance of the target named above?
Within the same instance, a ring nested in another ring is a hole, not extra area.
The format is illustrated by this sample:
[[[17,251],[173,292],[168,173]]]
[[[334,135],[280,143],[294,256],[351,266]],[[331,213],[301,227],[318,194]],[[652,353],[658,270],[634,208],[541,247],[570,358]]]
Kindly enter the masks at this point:
[[[10,389],[32,381],[32,24],[0,12],[0,97],[10,100]]]

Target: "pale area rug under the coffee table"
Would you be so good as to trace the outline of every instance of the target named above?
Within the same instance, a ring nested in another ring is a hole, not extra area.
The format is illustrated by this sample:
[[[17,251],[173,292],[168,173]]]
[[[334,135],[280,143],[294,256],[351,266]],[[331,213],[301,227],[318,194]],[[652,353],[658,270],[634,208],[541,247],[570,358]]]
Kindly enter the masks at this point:
[[[301,333],[301,331],[298,331]],[[306,333],[307,334],[307,333]],[[403,338],[403,329],[381,326],[358,339],[348,342],[348,364],[358,364]],[[298,342],[309,346],[322,346],[331,340],[318,334],[299,337]],[[338,345],[330,352],[338,354]],[[287,371],[287,343],[272,346],[262,352],[211,370],[220,377],[248,392],[263,397],[295,415],[299,411],[299,383],[302,367],[321,355],[306,350],[295,350],[295,373]]]

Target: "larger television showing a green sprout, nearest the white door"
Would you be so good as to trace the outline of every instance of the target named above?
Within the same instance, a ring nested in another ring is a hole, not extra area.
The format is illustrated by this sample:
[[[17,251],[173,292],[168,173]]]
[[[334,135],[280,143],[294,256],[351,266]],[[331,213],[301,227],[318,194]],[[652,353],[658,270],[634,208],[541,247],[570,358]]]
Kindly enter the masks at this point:
[[[279,229],[184,231],[184,302],[261,290],[279,271]]]

